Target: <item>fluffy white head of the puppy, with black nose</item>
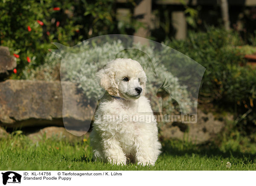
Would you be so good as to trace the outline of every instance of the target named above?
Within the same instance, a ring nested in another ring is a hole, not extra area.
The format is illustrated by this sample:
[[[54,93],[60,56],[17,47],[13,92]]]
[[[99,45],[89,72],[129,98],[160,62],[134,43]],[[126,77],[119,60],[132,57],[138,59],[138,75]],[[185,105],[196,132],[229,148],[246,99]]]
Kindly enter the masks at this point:
[[[118,58],[106,64],[97,76],[101,86],[111,96],[130,100],[146,93],[147,78],[140,63],[135,60]]]

